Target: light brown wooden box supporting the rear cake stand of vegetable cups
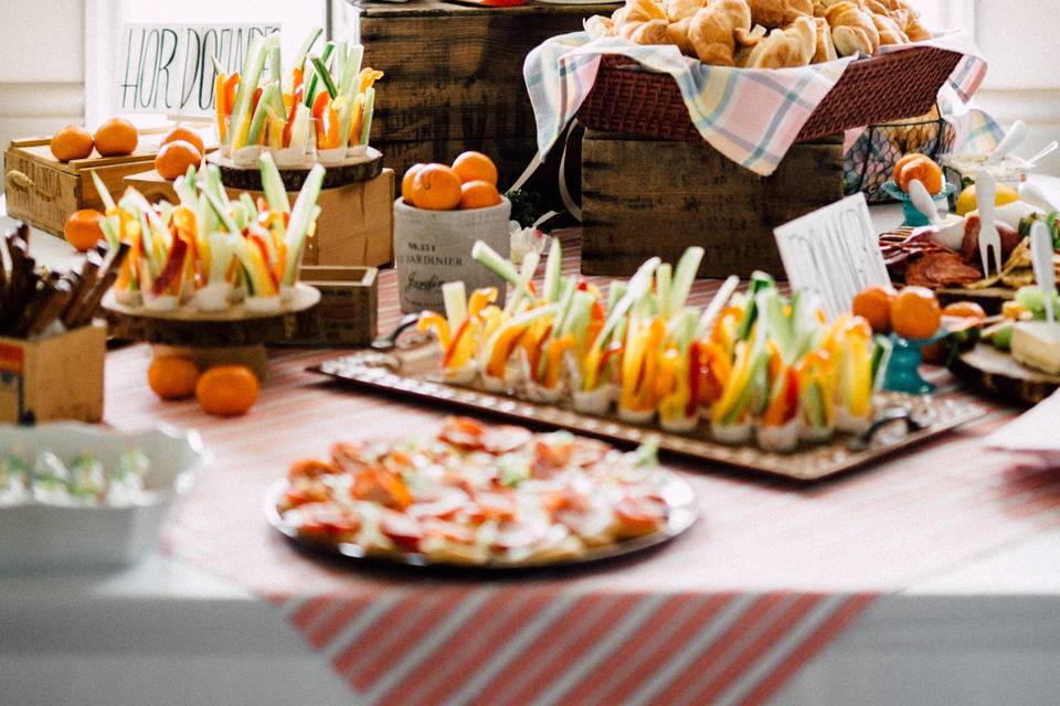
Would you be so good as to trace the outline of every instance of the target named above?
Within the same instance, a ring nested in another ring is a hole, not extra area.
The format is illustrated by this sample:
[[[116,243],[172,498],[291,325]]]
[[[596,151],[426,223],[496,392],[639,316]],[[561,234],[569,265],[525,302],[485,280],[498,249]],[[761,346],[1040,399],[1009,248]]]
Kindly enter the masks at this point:
[[[125,183],[138,189],[148,201],[177,201],[172,183],[155,170],[127,176]],[[226,191],[235,199],[243,190]],[[255,197],[264,195],[254,191],[248,193]],[[288,195],[292,203],[298,196],[297,192]],[[314,237],[306,243],[304,264],[379,267],[391,260],[394,242],[393,170],[384,169],[370,181],[325,189],[317,203],[320,217]]]

